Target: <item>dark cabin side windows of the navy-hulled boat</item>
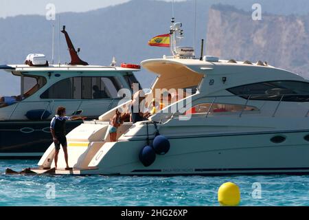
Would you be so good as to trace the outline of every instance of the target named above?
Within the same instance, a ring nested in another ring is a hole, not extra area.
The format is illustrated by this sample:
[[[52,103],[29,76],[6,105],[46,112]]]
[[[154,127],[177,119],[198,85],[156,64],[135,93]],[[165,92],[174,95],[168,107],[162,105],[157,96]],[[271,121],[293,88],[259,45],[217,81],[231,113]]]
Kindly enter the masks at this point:
[[[121,89],[115,77],[73,77],[61,80],[47,89],[41,98],[100,99],[118,98]]]

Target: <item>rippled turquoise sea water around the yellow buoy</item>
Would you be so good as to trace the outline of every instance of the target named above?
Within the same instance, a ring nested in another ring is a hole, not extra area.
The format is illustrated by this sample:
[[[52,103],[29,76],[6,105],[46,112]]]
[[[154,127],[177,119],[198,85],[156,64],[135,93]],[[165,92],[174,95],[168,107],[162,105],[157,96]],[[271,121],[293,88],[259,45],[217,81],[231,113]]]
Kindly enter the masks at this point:
[[[36,160],[0,161],[0,206],[219,206],[221,184],[240,187],[240,206],[309,206],[309,176],[5,175]]]

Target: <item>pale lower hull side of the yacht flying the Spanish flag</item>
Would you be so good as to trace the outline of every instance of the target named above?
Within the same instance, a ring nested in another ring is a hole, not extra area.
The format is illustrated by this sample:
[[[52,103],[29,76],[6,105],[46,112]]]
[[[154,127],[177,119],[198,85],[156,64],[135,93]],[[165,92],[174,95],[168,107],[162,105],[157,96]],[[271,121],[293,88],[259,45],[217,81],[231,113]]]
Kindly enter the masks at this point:
[[[106,143],[104,152],[78,174],[234,175],[309,173],[309,130],[169,137],[170,151],[145,167],[139,151],[146,139]],[[271,138],[283,136],[281,143]],[[61,171],[59,171],[61,173]],[[60,174],[59,173],[59,174]],[[63,173],[63,172],[62,172]]]

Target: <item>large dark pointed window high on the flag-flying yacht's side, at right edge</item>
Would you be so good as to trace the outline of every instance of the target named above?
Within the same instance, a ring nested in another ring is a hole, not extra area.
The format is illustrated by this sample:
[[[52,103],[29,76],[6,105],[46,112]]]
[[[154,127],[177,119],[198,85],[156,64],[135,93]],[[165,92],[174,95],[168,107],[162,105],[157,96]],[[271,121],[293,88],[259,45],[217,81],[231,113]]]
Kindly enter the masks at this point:
[[[309,102],[309,83],[281,80],[242,85],[227,89],[232,94],[250,100]]]

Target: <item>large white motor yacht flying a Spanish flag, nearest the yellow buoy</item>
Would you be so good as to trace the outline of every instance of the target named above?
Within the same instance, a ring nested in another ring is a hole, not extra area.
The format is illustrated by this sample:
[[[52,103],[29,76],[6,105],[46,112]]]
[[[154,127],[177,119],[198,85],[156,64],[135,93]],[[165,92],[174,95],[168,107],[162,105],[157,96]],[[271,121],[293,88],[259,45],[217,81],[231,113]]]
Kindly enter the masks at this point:
[[[173,23],[171,33],[177,34]],[[173,36],[171,36],[173,39]],[[309,81],[259,61],[172,57],[142,61],[158,75],[156,89],[192,89],[147,120],[124,122],[111,142],[115,107],[67,135],[69,166],[60,151],[56,174],[231,175],[309,173]],[[128,104],[125,103],[125,104]],[[124,105],[125,105],[124,104]],[[174,110],[173,110],[174,109]],[[176,110],[175,110],[176,109]],[[54,144],[35,173],[54,167]]]

